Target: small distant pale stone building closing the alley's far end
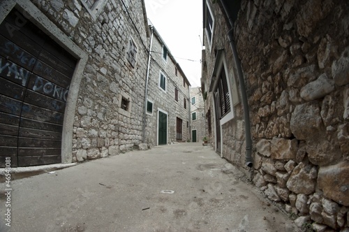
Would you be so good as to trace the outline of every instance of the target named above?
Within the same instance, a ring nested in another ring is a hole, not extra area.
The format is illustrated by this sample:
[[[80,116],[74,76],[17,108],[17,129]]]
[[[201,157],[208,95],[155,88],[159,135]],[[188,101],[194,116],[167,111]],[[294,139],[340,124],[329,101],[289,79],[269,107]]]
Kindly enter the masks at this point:
[[[205,104],[201,87],[193,87],[191,92],[191,141],[201,142],[207,137],[205,132]]]

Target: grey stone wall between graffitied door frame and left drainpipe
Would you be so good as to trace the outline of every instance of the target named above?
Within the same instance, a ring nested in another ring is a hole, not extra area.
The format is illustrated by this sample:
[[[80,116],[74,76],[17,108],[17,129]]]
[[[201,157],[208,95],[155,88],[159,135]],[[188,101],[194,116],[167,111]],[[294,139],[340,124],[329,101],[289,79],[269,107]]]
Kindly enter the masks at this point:
[[[96,10],[79,0],[33,2],[89,55],[75,112],[73,161],[107,157],[142,143],[149,47],[142,1],[124,1],[126,7],[101,1]],[[126,58],[130,39],[137,47],[134,66]],[[120,108],[122,96],[128,98],[128,110]]]

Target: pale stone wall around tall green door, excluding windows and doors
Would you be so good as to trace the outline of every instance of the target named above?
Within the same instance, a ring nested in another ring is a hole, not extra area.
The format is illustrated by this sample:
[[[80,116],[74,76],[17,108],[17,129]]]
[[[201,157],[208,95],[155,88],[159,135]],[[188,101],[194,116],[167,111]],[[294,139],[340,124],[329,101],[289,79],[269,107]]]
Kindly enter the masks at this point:
[[[154,102],[153,114],[147,115],[147,143],[157,145],[158,139],[158,110],[168,113],[168,143],[184,142],[190,138],[189,133],[189,86],[188,79],[181,71],[179,64],[172,57],[168,48],[168,58],[163,55],[163,42],[158,31],[154,29],[153,45],[151,48],[151,64],[149,70],[148,99]],[[166,46],[166,45],[165,45]],[[177,68],[177,75],[176,75]],[[159,87],[160,73],[166,76],[166,91]],[[185,83],[185,84],[184,84]],[[174,98],[174,89],[178,89],[178,101]],[[184,99],[186,108],[184,108]],[[182,120],[182,138],[177,140],[177,117]]]

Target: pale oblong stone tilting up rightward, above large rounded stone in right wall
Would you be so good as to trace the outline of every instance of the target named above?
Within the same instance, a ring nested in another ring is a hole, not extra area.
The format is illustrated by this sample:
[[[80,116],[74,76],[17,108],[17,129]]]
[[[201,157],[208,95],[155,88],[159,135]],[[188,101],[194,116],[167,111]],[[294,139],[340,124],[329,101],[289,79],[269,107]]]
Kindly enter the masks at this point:
[[[327,78],[326,73],[323,73],[317,80],[302,87],[301,97],[306,101],[313,101],[326,96],[332,91],[334,91],[334,81]]]

